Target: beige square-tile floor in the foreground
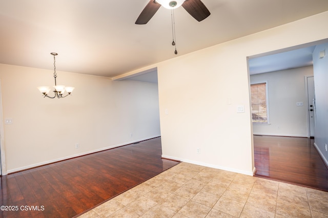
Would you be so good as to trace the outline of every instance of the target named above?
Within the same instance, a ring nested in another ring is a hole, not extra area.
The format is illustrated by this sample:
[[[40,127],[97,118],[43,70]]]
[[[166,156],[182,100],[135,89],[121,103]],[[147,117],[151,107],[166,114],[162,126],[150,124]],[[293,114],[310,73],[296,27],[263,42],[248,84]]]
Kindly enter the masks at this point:
[[[182,162],[79,217],[328,217],[328,192]]]

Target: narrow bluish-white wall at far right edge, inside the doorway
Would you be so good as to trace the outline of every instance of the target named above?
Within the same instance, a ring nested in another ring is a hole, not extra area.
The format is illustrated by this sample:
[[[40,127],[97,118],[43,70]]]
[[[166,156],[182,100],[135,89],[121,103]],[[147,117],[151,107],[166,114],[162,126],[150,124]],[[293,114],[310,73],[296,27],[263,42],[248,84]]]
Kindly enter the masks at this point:
[[[325,51],[325,57],[319,53]],[[317,46],[313,52],[314,89],[316,99],[315,145],[328,165],[328,43]]]

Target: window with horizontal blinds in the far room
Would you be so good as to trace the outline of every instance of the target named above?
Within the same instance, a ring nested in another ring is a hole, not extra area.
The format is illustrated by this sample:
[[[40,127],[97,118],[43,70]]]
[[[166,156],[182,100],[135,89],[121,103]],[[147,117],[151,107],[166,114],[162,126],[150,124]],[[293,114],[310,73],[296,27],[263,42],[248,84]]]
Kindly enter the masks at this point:
[[[269,123],[267,82],[251,84],[253,123]]]

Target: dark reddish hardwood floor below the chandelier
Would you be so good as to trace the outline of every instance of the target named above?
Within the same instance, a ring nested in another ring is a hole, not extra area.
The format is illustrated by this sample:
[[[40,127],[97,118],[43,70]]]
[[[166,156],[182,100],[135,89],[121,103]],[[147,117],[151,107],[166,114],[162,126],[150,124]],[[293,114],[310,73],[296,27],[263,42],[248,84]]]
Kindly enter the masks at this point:
[[[176,164],[158,137],[3,176],[0,217],[73,217]]]

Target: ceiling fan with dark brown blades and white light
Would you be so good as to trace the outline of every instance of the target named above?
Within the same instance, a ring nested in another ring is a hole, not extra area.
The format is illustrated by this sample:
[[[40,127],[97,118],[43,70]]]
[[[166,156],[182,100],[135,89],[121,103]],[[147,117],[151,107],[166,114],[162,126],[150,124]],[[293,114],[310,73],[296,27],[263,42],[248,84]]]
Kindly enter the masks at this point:
[[[156,11],[163,6],[168,9],[175,9],[182,6],[196,20],[201,21],[210,16],[210,11],[200,0],[150,0],[144,10],[141,11],[135,24],[147,24]]]

